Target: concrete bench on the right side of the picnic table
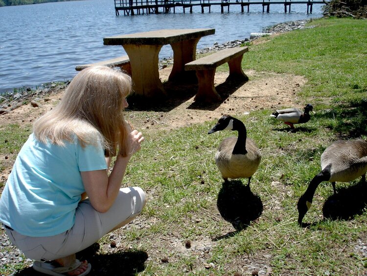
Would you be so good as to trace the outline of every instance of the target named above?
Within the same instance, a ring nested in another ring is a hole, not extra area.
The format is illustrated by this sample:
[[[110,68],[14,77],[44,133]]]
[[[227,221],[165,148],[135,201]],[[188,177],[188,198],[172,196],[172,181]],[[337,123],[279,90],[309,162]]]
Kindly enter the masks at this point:
[[[241,68],[242,57],[248,47],[227,48],[185,64],[185,70],[196,70],[198,92],[195,101],[213,102],[222,98],[214,87],[214,75],[218,66],[228,62],[229,76],[227,80],[247,81],[249,78]]]

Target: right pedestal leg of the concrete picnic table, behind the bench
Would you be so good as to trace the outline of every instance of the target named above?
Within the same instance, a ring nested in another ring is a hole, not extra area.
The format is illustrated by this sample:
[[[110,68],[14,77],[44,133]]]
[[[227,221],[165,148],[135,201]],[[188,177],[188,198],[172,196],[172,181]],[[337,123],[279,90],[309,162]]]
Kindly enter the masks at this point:
[[[169,81],[197,82],[195,71],[185,71],[185,64],[195,60],[196,45],[200,38],[172,43],[173,67],[168,77]]]

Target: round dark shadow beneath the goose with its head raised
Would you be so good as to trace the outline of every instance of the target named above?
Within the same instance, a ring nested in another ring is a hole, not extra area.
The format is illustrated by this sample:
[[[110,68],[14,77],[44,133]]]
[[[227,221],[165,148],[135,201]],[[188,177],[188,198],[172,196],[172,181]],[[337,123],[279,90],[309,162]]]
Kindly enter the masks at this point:
[[[260,217],[263,204],[248,185],[244,185],[240,180],[231,180],[222,184],[218,193],[217,208],[225,221],[231,223],[237,231],[241,231],[246,229],[251,221]]]

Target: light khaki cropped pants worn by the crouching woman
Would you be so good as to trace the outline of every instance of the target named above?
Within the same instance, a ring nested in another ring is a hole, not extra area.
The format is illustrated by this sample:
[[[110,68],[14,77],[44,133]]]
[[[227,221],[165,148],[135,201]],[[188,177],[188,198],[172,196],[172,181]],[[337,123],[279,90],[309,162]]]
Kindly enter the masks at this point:
[[[135,218],[145,206],[145,194],[138,187],[122,188],[112,207],[97,212],[89,200],[81,201],[75,211],[75,224],[69,230],[50,237],[29,237],[7,229],[10,241],[27,258],[48,261],[79,252]]]

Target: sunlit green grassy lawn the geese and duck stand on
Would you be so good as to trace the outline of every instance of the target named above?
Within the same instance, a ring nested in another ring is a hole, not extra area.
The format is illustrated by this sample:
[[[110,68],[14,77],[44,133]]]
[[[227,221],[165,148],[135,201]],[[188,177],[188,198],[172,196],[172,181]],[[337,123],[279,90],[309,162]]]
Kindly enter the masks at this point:
[[[124,256],[131,264],[141,252],[147,257],[144,266],[126,268],[126,274],[367,274],[367,258],[358,250],[367,243],[367,186],[360,178],[337,183],[337,196],[332,196],[330,183],[321,183],[303,220],[310,227],[298,226],[296,206],[309,181],[320,172],[321,153],[332,141],[367,138],[367,21],[320,19],[307,26],[261,38],[264,43],[250,45],[244,56],[244,70],[305,76],[308,82],[297,97],[312,103],[316,112],[294,133],[282,131],[283,125],[271,120],[272,110],[237,117],[261,149],[262,161],[251,180],[254,202],[262,208],[259,218],[235,230],[218,213],[219,195],[228,197],[223,208],[242,212],[251,208],[244,209],[240,193],[230,197],[241,190],[238,181],[222,185],[214,154],[220,141],[234,133],[207,135],[216,118],[201,125],[149,132],[125,178],[147,192],[148,203],[138,218],[140,226],[115,234],[122,239],[114,255]],[[19,151],[25,133],[31,131],[16,125],[0,129],[1,156]],[[100,240],[95,260],[108,263],[108,257],[102,256],[110,256],[110,243],[110,236]],[[194,250],[195,244],[208,248]],[[0,268],[0,274],[17,269],[10,265]]]

